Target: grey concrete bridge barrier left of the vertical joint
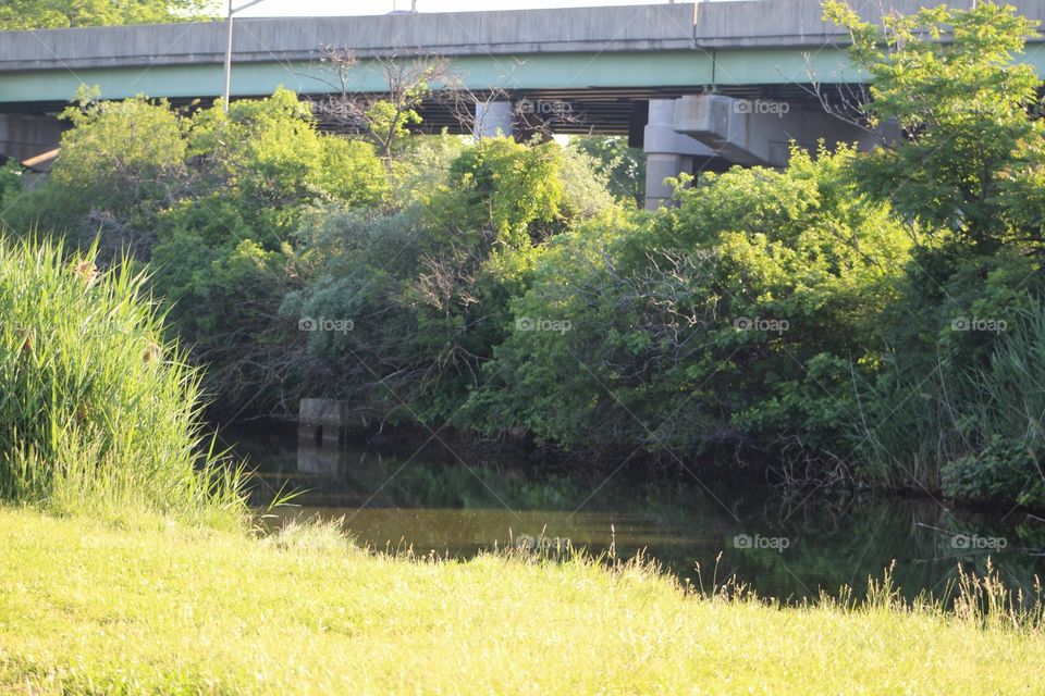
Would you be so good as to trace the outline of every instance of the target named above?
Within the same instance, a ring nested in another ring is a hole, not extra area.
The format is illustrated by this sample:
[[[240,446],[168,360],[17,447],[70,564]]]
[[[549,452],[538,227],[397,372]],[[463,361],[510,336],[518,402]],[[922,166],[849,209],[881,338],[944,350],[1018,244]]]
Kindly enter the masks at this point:
[[[364,17],[236,20],[237,63],[317,58],[320,46],[360,58],[690,48],[692,4]],[[224,22],[0,33],[0,71],[212,63]]]

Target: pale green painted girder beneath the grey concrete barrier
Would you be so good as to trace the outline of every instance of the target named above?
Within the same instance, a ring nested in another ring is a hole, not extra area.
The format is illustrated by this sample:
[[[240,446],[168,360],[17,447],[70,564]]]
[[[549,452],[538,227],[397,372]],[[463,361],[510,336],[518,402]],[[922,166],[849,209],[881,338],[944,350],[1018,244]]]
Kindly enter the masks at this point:
[[[1045,45],[1028,48],[1023,61],[1045,74]],[[471,55],[452,61],[453,70],[475,90],[620,87],[702,87],[743,85],[859,83],[863,76],[844,49],[730,49],[643,51],[632,53],[537,53]],[[186,64],[152,67],[94,67],[0,73],[0,103],[69,101],[81,85],[101,88],[106,99],[135,95],[208,98],[221,94],[222,65]],[[271,94],[283,85],[298,92],[331,90],[333,76],[314,63],[255,62],[233,64],[233,96]],[[373,63],[353,69],[349,88],[380,92],[384,76]]]

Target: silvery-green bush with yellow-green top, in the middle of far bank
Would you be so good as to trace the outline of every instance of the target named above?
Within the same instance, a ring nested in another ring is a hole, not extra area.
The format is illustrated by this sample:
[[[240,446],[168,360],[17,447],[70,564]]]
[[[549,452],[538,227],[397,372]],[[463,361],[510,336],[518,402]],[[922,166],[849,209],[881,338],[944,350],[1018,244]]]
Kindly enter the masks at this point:
[[[554,142],[431,144],[454,158],[425,163],[433,177],[417,206],[306,217],[296,243],[310,279],[287,294],[283,312],[354,322],[306,339],[320,363],[312,373],[331,375],[310,380],[324,395],[442,424],[481,387],[544,243],[613,201],[589,159]]]

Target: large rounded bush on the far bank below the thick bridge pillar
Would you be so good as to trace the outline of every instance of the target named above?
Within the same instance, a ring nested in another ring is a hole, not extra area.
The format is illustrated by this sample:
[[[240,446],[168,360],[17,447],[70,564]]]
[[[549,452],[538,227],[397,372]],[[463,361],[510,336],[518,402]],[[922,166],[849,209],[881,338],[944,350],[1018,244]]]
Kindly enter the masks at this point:
[[[847,181],[855,157],[737,167],[681,191],[677,209],[603,215],[553,240],[468,413],[566,446],[732,453],[790,439],[829,453],[849,356],[873,362],[909,248],[888,208]],[[553,330],[528,330],[542,321]]]

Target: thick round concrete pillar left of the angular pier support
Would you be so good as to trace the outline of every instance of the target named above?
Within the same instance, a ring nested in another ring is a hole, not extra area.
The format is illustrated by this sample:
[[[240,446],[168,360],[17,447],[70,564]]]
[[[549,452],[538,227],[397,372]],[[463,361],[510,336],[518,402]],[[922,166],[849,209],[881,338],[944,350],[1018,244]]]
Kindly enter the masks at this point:
[[[651,99],[650,115],[643,132],[646,151],[646,209],[672,204],[673,190],[667,177],[692,173],[693,158],[710,158],[714,151],[689,136],[675,132],[675,100]]]

